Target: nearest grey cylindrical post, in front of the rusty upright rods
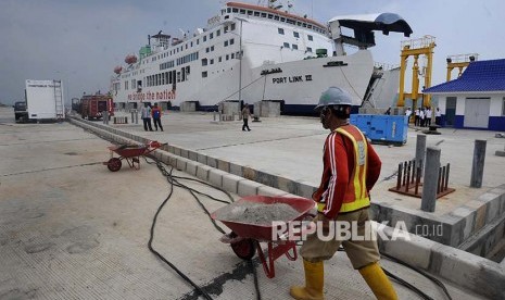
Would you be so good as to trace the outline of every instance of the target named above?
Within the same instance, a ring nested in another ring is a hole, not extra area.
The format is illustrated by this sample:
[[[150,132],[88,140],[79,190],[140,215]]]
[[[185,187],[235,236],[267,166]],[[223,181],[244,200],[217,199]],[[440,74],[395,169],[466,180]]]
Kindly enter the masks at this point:
[[[440,148],[428,147],[426,151],[425,183],[422,185],[421,210],[434,212],[440,170]]]

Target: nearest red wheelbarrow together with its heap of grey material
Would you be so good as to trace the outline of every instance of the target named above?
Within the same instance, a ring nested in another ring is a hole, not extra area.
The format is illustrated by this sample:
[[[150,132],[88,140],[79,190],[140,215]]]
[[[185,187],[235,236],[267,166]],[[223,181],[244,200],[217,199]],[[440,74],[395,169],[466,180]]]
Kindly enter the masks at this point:
[[[220,240],[230,243],[237,257],[251,260],[256,250],[268,278],[275,277],[274,261],[286,254],[295,261],[296,242],[283,235],[280,225],[291,226],[311,215],[314,201],[304,198],[250,196],[223,207],[212,213],[212,218],[225,224],[232,232]],[[268,261],[261,242],[266,242]]]

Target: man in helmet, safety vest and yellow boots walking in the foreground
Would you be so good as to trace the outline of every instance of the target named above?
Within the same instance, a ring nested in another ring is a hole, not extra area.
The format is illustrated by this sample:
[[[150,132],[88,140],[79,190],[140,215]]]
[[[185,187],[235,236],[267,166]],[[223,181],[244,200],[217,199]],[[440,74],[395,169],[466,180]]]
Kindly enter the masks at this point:
[[[323,92],[316,110],[320,122],[330,134],[326,138],[323,154],[323,176],[313,199],[317,203],[314,226],[323,230],[338,222],[348,222],[352,233],[365,236],[370,230],[369,190],[379,178],[381,162],[363,133],[349,124],[351,96],[330,87]],[[337,222],[334,222],[337,221]],[[319,227],[320,228],[320,227]],[[300,250],[305,270],[305,286],[291,287],[294,299],[324,299],[324,261],[329,260],[343,246],[355,270],[358,270],[378,299],[397,299],[396,292],[383,273],[376,239],[332,238],[321,240],[318,230],[307,235]],[[338,283],[337,283],[338,284]]]

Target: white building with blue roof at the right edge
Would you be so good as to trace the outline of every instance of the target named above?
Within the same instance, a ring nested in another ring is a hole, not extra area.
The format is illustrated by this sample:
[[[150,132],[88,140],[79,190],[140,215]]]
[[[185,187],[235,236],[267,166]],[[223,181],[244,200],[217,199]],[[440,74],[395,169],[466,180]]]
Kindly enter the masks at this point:
[[[505,130],[505,59],[470,62],[459,78],[422,92],[439,98],[444,127]]]

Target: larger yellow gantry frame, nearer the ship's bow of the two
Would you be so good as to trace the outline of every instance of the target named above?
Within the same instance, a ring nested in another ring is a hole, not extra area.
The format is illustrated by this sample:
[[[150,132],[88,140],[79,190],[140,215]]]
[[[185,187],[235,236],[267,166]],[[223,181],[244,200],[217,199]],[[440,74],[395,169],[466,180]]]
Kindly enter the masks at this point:
[[[425,55],[427,59],[427,65],[422,70],[425,76],[424,88],[431,86],[431,70],[433,66],[433,49],[437,46],[434,43],[433,36],[424,36],[418,39],[411,39],[402,41],[402,53],[400,63],[400,92],[397,107],[403,108],[405,105],[405,98],[409,98],[413,101],[413,109],[417,108],[417,99],[420,97],[424,107],[429,107],[431,103],[431,96],[419,92],[419,55]],[[405,71],[407,67],[407,59],[414,57],[414,65],[412,67],[412,91],[405,92]]]

